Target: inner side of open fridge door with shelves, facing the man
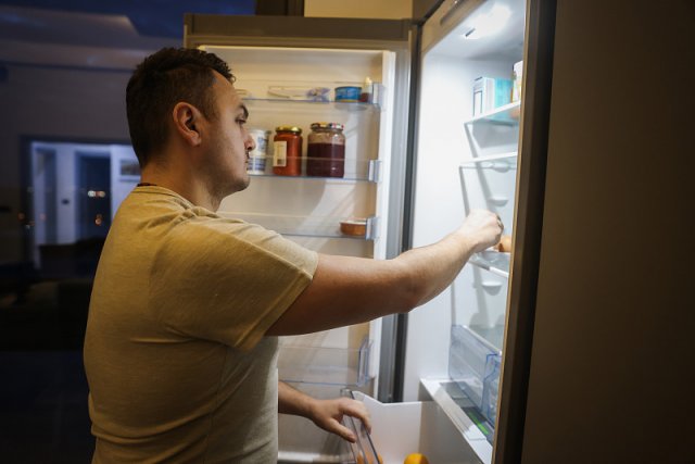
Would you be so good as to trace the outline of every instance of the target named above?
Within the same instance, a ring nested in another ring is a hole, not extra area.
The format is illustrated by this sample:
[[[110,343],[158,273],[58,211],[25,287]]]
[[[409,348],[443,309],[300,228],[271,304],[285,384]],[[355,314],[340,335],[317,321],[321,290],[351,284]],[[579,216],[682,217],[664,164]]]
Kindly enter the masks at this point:
[[[248,189],[226,198],[219,214],[263,225],[321,253],[386,258],[389,162],[395,54],[387,50],[328,50],[286,47],[213,47],[236,76],[250,112],[249,127],[269,133],[265,168]],[[334,88],[361,90],[369,78],[368,102],[337,102]],[[309,176],[311,125],[344,125],[344,174]],[[278,126],[302,129],[300,175],[274,174],[273,143]],[[341,222],[366,220],[357,236]],[[330,311],[330,309],[327,309]],[[376,391],[380,321],[303,336],[281,337],[280,379],[318,398],[343,388]],[[280,416],[280,460],[343,462],[352,453],[342,440],[305,419]]]

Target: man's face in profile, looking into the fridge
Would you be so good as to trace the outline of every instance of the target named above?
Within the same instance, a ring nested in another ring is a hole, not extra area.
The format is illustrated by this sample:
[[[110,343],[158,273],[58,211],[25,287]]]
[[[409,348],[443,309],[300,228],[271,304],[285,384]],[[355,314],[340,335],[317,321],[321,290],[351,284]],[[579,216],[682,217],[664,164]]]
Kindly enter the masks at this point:
[[[213,86],[217,117],[211,121],[207,175],[215,190],[228,196],[249,186],[248,153],[254,148],[245,123],[249,113],[231,83],[218,73]]]

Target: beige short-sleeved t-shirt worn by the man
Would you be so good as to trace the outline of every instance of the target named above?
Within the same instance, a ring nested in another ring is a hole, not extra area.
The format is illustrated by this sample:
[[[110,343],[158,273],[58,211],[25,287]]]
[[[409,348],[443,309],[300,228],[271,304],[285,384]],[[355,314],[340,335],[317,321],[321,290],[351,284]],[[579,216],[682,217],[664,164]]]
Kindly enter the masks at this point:
[[[97,463],[277,460],[277,339],[317,255],[161,187],[122,203],[89,308]]]

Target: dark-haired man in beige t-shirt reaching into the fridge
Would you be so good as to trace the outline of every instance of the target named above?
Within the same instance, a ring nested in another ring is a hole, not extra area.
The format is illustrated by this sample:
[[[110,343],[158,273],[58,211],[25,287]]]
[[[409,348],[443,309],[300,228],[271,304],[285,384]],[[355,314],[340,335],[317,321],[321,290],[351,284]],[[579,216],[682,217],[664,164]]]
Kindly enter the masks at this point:
[[[356,401],[277,379],[277,337],[406,312],[441,292],[501,224],[478,211],[442,241],[389,261],[317,254],[217,216],[249,185],[247,108],[227,65],[198,50],[149,57],[127,87],[142,183],[97,271],[85,340],[94,462],[277,460],[277,414],[354,440]]]

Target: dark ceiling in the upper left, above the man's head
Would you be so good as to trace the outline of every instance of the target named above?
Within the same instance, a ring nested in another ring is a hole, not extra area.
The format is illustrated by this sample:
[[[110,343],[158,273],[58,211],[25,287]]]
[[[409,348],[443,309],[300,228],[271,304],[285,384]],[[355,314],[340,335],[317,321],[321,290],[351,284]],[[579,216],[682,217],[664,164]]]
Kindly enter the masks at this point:
[[[131,70],[184,45],[185,13],[254,14],[255,0],[0,0],[7,66]]]

